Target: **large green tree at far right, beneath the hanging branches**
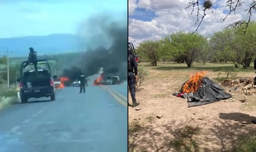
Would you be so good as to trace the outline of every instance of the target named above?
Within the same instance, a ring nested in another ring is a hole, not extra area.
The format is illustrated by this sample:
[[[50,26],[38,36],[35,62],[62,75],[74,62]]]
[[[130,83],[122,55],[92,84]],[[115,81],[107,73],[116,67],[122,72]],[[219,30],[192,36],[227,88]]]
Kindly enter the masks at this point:
[[[244,33],[245,28],[247,28],[246,33]],[[250,22],[248,27],[243,25],[240,28],[233,27],[214,33],[210,45],[214,57],[219,59],[219,62],[232,61],[235,68],[242,65],[246,69],[256,54],[255,37],[256,23]]]

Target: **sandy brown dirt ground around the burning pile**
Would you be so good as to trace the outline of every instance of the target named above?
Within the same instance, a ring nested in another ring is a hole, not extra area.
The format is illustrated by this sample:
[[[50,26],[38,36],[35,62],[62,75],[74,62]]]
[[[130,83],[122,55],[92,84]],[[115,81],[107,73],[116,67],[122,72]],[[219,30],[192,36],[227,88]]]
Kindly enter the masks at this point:
[[[256,124],[250,120],[256,117],[256,89],[245,95],[241,88],[224,87],[232,99],[188,108],[186,99],[172,93],[194,72],[150,69],[136,93],[140,105],[129,106],[129,151],[235,151],[241,139],[254,132]],[[217,72],[206,77],[213,80]]]

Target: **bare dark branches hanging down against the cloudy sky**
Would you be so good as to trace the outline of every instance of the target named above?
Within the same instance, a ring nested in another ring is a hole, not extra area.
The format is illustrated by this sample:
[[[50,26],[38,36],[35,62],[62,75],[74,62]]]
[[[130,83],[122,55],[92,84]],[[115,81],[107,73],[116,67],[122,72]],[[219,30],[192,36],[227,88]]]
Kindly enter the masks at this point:
[[[232,23],[231,25],[229,25],[229,27],[234,27],[234,26],[242,26],[242,25],[245,25],[245,28],[244,28],[244,33],[247,31],[247,27],[249,26],[249,22],[251,20],[251,17],[252,17],[252,12],[256,10],[256,1],[247,1],[247,2],[250,2],[250,6],[249,8],[246,10],[248,12],[248,15],[249,15],[249,18],[247,21],[241,21],[241,20],[238,20],[237,22],[235,23]],[[223,21],[227,19],[227,17],[232,13],[242,6],[242,0],[226,0],[226,7],[228,7],[229,9],[229,12],[227,13],[226,17],[224,17],[224,19],[222,19]],[[190,4],[186,7],[186,9],[192,7],[192,11],[191,11],[191,15],[193,14],[194,12],[194,9],[196,7],[196,14],[197,14],[197,20],[196,20],[196,23],[198,23],[198,27],[196,28],[196,30],[194,32],[197,32],[198,31],[198,28],[200,27],[201,23],[203,22],[203,19],[204,17],[207,15],[206,14],[206,11],[207,10],[210,10],[212,7],[213,7],[213,0],[204,0],[203,3],[202,3],[202,6],[203,6],[203,16],[201,17],[201,20],[199,22],[199,12],[200,12],[200,9],[199,7],[201,7],[199,5],[199,0],[192,0],[190,1]],[[193,33],[194,33],[193,32]]]

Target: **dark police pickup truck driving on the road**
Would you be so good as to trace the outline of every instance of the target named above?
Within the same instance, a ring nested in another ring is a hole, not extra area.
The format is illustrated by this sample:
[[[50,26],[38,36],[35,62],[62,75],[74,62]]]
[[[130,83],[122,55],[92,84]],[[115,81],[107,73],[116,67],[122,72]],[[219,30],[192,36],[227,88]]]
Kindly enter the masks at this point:
[[[21,103],[27,103],[29,98],[41,97],[50,97],[50,100],[54,101],[54,78],[57,78],[57,76],[51,77],[48,61],[37,60],[37,71],[31,70],[31,67],[34,67],[32,64],[24,67],[26,62],[22,62],[21,78],[17,79],[20,87]]]

